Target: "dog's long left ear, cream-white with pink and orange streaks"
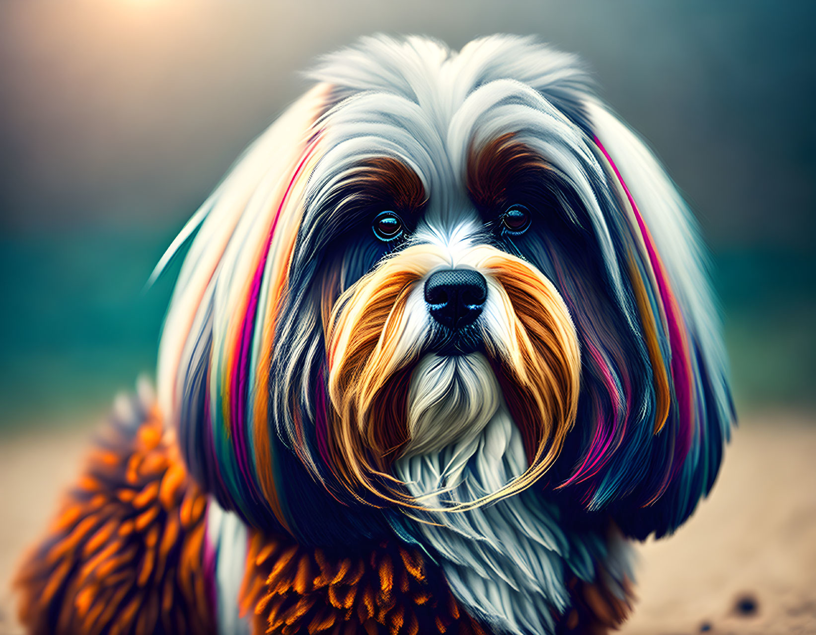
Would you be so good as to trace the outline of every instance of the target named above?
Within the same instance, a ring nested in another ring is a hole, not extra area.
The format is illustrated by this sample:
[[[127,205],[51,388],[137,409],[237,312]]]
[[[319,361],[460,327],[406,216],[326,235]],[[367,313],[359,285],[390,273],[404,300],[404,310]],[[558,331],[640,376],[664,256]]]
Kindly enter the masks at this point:
[[[318,84],[246,150],[157,267],[195,238],[162,330],[157,384],[190,471],[225,508],[286,526],[269,358],[331,89]],[[279,480],[279,479],[278,479]]]

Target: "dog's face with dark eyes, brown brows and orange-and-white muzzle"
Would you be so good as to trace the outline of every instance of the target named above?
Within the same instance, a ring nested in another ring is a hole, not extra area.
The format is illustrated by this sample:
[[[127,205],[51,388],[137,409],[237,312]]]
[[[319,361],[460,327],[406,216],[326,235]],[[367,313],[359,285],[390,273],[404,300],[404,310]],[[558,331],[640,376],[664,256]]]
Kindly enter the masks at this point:
[[[341,228],[306,256],[330,254],[317,273],[331,405],[319,432],[348,486],[397,502],[372,476],[477,439],[504,402],[530,468],[489,500],[541,476],[575,418],[578,335],[535,249],[562,222],[558,178],[512,135],[481,144],[455,131],[468,145],[457,158],[416,124],[432,152],[354,157],[304,222]],[[377,141],[365,153],[384,153]]]

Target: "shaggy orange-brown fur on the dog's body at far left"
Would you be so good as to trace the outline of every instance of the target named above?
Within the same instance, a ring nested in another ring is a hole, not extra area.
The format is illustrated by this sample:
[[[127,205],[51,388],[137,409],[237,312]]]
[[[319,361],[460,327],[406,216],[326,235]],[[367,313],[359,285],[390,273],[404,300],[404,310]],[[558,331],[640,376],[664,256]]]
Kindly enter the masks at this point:
[[[20,622],[37,635],[214,633],[206,496],[155,412],[107,432],[16,576]]]

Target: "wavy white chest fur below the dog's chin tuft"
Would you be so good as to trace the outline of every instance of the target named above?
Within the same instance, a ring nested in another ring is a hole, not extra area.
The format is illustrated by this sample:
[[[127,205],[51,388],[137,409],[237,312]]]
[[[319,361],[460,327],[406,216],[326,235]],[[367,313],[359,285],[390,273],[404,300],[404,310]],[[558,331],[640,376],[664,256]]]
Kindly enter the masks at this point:
[[[557,510],[524,491],[462,513],[440,511],[501,491],[526,471],[521,435],[499,402],[477,434],[403,456],[394,469],[415,500],[436,510],[412,531],[433,549],[459,602],[497,632],[550,633],[551,609],[563,611],[568,596],[562,569],[570,536]]]

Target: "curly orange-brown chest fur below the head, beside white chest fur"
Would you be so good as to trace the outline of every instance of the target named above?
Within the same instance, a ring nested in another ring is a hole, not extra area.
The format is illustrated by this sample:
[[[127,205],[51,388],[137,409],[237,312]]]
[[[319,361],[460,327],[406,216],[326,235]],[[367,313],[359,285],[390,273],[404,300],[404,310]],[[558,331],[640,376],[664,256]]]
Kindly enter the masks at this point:
[[[395,543],[329,553],[256,532],[241,606],[255,633],[487,635],[422,553]]]

